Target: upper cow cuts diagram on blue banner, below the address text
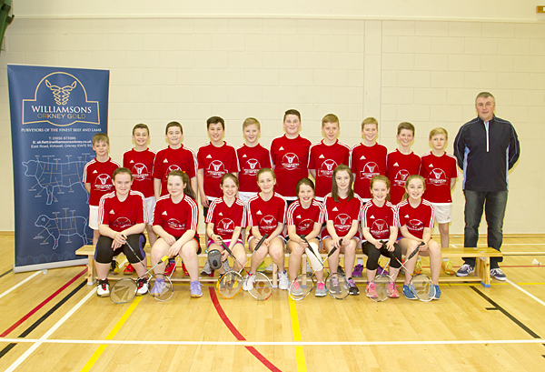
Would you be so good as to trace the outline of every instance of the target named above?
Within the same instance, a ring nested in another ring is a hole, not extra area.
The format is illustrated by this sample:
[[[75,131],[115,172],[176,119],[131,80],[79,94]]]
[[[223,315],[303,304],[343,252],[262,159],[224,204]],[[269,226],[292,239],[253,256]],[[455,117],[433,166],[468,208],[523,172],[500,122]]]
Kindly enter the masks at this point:
[[[57,189],[57,193],[62,192],[63,188],[67,188],[69,192],[72,192],[72,186],[76,185],[85,190],[83,183],[85,164],[87,164],[86,158],[62,163],[49,159],[42,161],[36,157],[36,160],[23,162],[25,176],[35,177],[36,180],[35,185],[31,189],[35,189],[36,187],[41,188],[37,194],[38,196],[45,191],[45,195],[47,196],[46,204],[48,206],[54,200],[57,200],[54,196],[55,188]],[[87,193],[85,192],[85,194]]]

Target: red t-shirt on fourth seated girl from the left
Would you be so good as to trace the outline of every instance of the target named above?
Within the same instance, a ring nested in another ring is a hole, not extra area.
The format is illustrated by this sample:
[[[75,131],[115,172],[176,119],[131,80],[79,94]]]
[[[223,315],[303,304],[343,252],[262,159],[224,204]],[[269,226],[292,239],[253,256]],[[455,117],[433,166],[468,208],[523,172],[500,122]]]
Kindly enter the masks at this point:
[[[287,204],[280,194],[274,193],[269,201],[260,194],[248,200],[248,226],[258,226],[262,236],[271,235],[278,224],[285,223]]]

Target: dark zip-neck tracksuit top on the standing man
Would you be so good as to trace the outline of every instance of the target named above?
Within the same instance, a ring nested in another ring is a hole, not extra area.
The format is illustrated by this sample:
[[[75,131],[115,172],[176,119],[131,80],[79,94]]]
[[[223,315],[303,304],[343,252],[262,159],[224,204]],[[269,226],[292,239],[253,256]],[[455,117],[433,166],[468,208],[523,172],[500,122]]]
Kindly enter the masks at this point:
[[[507,172],[520,156],[519,138],[507,120],[492,116],[487,129],[477,116],[458,131],[454,156],[463,170],[463,190],[506,191]]]

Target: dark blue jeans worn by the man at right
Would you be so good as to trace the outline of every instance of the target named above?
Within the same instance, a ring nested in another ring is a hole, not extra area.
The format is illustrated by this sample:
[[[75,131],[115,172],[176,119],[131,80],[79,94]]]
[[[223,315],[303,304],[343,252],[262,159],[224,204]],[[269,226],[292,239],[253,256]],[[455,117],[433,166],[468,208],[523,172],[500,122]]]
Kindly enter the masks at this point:
[[[464,190],[466,199],[464,218],[465,228],[463,230],[463,246],[475,247],[479,240],[479,225],[481,224],[482,210],[486,216],[488,225],[487,240],[488,246],[500,250],[503,240],[503,217],[507,206],[508,191],[486,192]],[[464,257],[466,264],[475,266],[475,258]],[[498,268],[502,257],[490,257],[490,268]]]

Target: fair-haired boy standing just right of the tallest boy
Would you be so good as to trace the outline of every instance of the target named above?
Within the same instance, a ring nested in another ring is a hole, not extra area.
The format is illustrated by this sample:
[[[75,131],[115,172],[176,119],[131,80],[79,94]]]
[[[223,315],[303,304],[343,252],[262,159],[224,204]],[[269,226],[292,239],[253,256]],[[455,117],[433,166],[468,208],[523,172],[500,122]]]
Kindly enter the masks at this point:
[[[319,201],[323,201],[323,197],[332,191],[333,169],[341,164],[350,166],[350,147],[337,139],[340,129],[337,116],[323,116],[324,138],[310,147],[308,168],[316,181],[316,200]]]

